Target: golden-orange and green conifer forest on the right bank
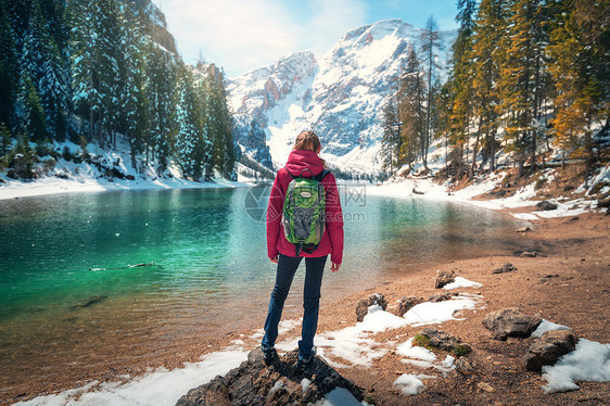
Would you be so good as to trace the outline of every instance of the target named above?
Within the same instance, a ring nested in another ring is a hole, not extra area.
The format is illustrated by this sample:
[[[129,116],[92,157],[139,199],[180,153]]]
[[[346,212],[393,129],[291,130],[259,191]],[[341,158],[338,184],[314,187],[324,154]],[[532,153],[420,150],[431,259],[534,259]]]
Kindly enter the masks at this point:
[[[445,176],[472,179],[509,156],[518,177],[552,155],[585,174],[608,157],[610,2],[458,0],[447,79],[433,17],[383,107],[383,166],[428,169],[437,142]],[[586,176],[585,176],[586,178]]]

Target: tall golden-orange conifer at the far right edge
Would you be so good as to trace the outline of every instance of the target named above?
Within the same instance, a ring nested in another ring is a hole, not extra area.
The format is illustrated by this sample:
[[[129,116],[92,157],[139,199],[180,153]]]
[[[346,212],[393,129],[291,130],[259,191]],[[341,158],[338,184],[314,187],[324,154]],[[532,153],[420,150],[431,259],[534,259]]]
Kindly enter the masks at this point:
[[[549,69],[556,83],[556,144],[571,156],[584,157],[585,181],[593,161],[593,127],[608,126],[610,24],[607,4],[593,0],[560,1],[550,28]]]

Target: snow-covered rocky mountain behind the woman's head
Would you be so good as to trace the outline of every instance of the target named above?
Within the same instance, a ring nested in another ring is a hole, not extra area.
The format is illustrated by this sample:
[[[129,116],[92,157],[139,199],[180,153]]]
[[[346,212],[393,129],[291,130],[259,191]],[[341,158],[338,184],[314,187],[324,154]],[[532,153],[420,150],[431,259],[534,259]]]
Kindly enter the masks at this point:
[[[269,161],[281,166],[298,132],[313,129],[329,163],[355,173],[378,172],[381,106],[409,48],[419,51],[420,33],[401,20],[382,21],[348,31],[319,62],[310,52],[294,53],[230,81],[244,153],[270,155]],[[443,35],[448,43],[455,37]],[[446,64],[448,43],[441,65]],[[253,144],[251,135],[256,138],[255,150],[246,147]]]

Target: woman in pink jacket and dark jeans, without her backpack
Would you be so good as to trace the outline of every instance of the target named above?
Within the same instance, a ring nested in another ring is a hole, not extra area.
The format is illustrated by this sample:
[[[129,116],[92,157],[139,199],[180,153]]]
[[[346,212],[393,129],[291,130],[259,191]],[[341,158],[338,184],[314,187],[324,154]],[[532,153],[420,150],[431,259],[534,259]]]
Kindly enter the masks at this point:
[[[284,196],[293,177],[314,177],[325,170],[326,163],[319,157],[320,140],[313,131],[303,131],[296,137],[292,152],[283,168],[278,170],[269,205],[267,207],[267,255],[274,264],[278,264],[276,286],[271,293],[269,313],[265,321],[265,337],[263,338],[263,353],[265,360],[270,363],[277,352],[274,347],[278,338],[278,325],[282,308],[292,284],[296,268],[305,258],[305,287],[303,291],[303,327],[298,341],[297,369],[305,368],[314,358],[314,337],[318,327],[318,310],[322,274],[328,255],[330,255],[331,271],[341,267],[343,257],[343,214],[336,190],[334,176],[328,173],[321,183],[326,192],[326,227],[317,249],[295,250],[295,245],[284,237],[281,225]]]

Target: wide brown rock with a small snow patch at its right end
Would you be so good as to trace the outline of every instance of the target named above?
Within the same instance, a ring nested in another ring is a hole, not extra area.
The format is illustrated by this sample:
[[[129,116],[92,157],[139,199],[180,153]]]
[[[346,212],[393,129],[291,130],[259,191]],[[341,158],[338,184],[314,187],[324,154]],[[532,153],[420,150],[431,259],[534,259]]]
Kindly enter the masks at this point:
[[[530,337],[541,321],[541,316],[525,315],[513,307],[492,312],[482,322],[492,331],[494,339],[506,340],[508,337]]]

